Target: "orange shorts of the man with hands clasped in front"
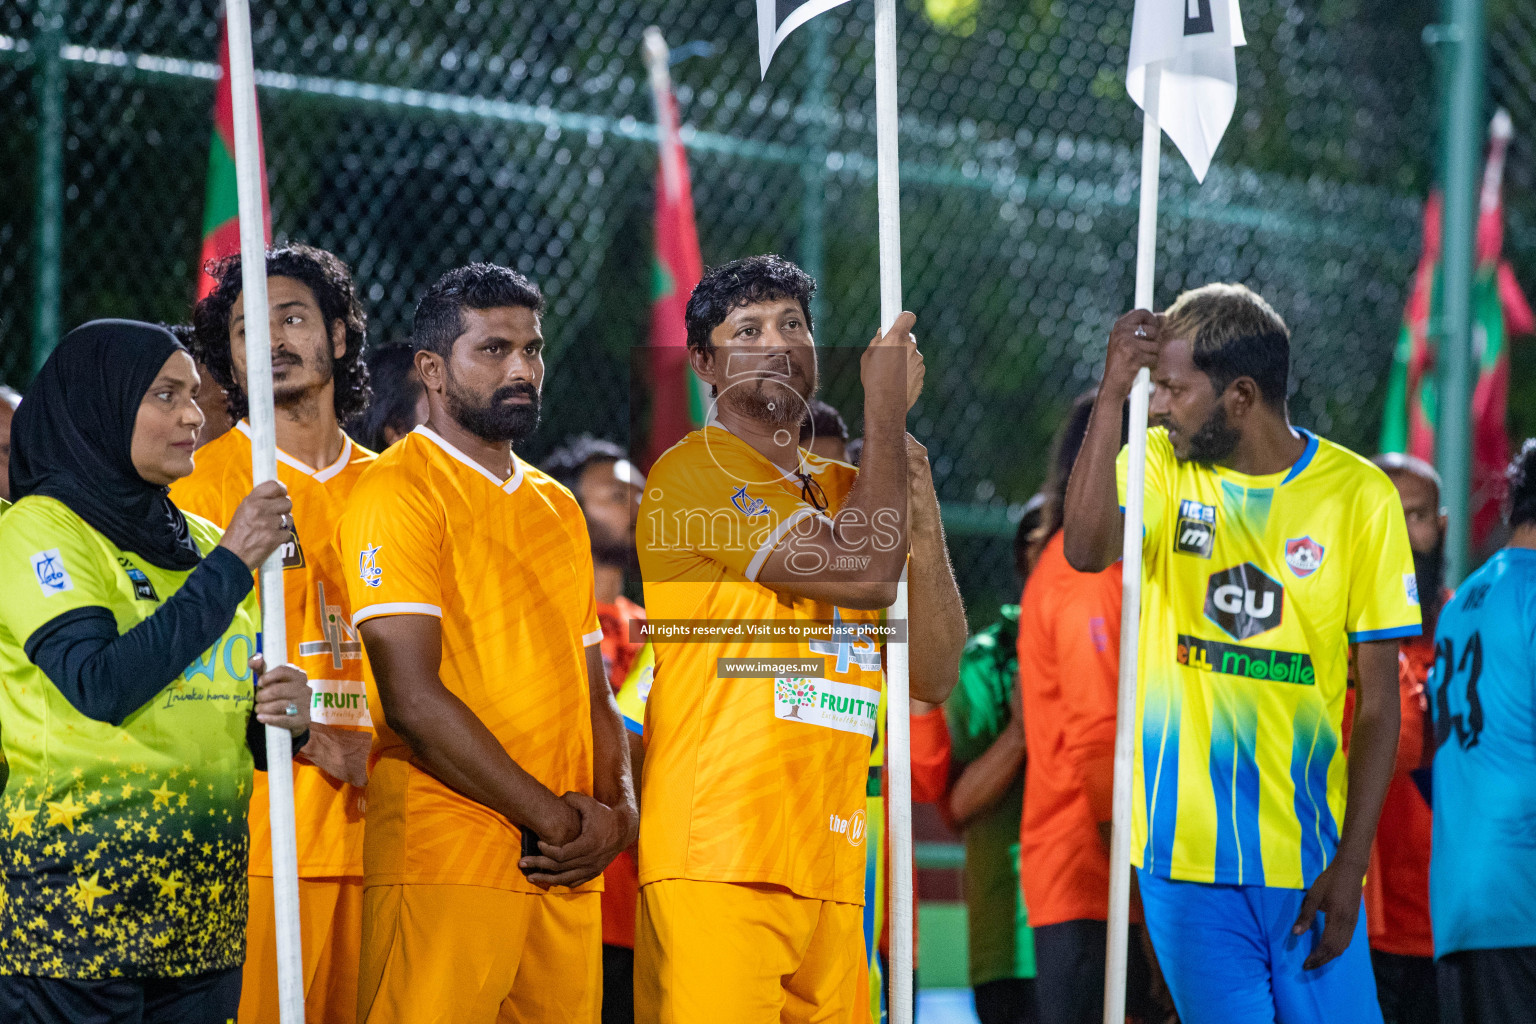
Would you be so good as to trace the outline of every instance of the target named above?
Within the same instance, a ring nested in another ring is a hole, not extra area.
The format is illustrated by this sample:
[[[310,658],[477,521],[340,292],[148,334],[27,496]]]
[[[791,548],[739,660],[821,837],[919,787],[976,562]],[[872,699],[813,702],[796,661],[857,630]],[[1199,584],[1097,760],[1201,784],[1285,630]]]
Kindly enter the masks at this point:
[[[598,1024],[602,894],[369,886],[359,1024]]]

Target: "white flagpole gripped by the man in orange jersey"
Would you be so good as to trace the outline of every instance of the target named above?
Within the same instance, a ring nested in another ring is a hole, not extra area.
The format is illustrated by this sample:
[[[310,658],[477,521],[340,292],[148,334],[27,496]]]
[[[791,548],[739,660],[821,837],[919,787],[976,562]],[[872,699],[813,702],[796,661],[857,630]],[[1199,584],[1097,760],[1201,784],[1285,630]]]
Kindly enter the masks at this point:
[[[902,180],[897,160],[895,0],[874,0],[876,195],[880,330],[902,315]],[[888,619],[906,622],[906,571]],[[912,1021],[912,745],[906,643],[886,645],[885,786],[891,809],[891,1024]],[[872,841],[872,840],[871,840]]]

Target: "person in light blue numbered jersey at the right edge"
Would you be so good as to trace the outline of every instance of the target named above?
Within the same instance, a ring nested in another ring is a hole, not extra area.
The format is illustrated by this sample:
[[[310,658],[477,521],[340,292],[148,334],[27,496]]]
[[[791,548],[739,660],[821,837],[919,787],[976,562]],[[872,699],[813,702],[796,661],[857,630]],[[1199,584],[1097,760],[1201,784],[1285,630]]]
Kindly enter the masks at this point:
[[[1536,1021],[1536,439],[1510,465],[1508,545],[1435,631],[1430,918],[1442,1024]]]

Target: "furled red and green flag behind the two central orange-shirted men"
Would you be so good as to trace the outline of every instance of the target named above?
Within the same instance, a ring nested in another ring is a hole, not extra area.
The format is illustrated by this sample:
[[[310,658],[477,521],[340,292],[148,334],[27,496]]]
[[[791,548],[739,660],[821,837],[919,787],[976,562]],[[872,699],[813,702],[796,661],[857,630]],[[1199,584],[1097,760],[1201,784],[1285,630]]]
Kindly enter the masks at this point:
[[[653,71],[660,161],[656,169],[656,266],[651,276],[651,425],[645,447],[648,470],[684,434],[703,425],[707,405],[700,382],[688,365],[688,329],[684,310],[703,276],[699,229],[693,218],[688,154],[677,129],[677,101],[671,81]]]

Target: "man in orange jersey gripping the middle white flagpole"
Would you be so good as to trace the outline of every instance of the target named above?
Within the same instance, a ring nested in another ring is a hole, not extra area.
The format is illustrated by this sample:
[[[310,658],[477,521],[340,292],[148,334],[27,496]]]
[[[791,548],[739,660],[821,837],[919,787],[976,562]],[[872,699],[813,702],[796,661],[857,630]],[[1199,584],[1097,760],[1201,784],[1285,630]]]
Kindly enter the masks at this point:
[[[794,264],[753,256],[710,270],[688,301],[688,355],[714,410],[651,468],[641,573],[653,623],[728,631],[651,634],[642,1024],[869,1019],[863,808],[882,609],[908,553],[912,697],[943,702],[965,645],[928,457],[905,433],[923,381],[914,316],[863,355],[854,470],[799,447],[814,289]],[[762,620],[786,639],[731,633]],[[819,622],[836,631],[805,631]],[[727,677],[728,659],[757,668]],[[765,671],[765,659],[814,665]]]

